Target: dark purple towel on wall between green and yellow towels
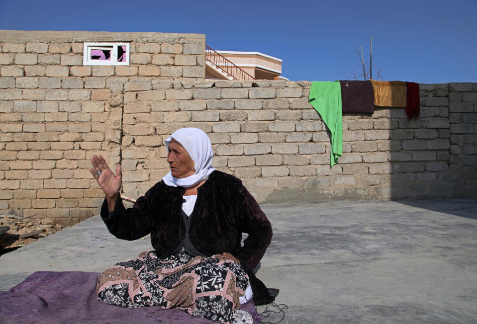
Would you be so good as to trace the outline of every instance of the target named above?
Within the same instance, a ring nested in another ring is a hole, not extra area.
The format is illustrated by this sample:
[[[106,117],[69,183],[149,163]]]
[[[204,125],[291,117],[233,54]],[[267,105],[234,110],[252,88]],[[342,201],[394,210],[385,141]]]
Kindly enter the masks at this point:
[[[372,114],[375,111],[375,99],[371,81],[340,80],[340,85],[343,113],[365,112]]]

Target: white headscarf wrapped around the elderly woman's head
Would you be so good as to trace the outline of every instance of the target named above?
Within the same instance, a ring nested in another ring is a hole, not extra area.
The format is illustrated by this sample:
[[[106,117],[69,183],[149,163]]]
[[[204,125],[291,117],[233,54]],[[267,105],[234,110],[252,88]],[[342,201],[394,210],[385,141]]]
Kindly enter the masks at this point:
[[[214,157],[212,145],[210,144],[209,137],[202,130],[192,127],[178,129],[164,141],[167,152],[169,152],[169,143],[171,143],[172,139],[181,143],[187,153],[189,153],[194,162],[195,173],[179,179],[173,176],[172,172],[169,171],[169,173],[162,178],[165,184],[173,187],[181,186],[188,188],[199,183],[215,170],[212,166]]]

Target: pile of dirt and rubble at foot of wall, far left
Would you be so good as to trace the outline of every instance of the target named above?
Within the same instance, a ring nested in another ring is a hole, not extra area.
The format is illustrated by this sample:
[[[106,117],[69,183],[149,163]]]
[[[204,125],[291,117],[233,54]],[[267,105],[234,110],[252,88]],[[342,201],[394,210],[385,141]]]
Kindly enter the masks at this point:
[[[36,215],[21,217],[9,210],[0,214],[0,255],[62,229],[61,225],[55,224],[51,219],[39,219]]]

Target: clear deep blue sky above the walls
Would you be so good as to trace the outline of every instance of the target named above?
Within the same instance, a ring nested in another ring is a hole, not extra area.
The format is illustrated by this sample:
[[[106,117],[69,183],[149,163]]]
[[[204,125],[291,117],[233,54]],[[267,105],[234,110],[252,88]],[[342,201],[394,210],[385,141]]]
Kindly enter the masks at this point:
[[[0,0],[0,29],[202,33],[215,50],[282,59],[293,81],[361,73],[353,51],[369,61],[372,36],[383,80],[476,82],[476,17],[476,0]]]

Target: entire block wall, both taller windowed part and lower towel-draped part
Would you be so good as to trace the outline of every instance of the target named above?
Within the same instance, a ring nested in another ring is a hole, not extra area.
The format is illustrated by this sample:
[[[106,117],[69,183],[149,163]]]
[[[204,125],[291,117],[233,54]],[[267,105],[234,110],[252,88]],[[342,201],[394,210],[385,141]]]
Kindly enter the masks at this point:
[[[131,44],[128,67],[82,65],[84,41]],[[308,103],[310,82],[204,81],[197,34],[0,31],[0,211],[75,224],[102,191],[88,171],[121,163],[136,198],[168,172],[164,140],[208,133],[214,166],[259,202],[477,196],[477,83],[421,84],[404,109],[343,116],[343,156]]]

